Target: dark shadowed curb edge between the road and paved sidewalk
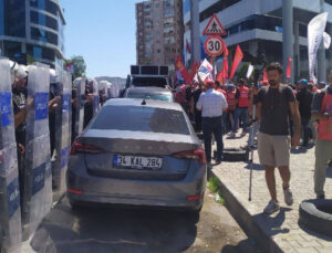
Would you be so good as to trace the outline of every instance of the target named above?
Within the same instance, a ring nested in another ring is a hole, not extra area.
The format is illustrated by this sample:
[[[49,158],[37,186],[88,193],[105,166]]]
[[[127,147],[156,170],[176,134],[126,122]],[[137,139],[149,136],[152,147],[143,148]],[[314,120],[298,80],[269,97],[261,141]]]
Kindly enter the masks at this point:
[[[245,233],[252,238],[263,252],[282,253],[273,238],[267,235],[264,231],[255,221],[249,211],[241,202],[231,193],[231,191],[222,183],[221,177],[211,170],[211,176],[219,179],[219,188],[225,198],[225,207],[228,209],[234,219],[238,222]]]

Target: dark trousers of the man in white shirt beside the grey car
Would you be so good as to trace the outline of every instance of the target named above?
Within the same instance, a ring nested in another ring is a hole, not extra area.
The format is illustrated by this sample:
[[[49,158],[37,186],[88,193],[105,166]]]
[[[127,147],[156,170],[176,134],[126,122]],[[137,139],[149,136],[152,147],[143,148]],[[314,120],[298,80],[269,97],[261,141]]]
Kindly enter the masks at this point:
[[[221,160],[224,143],[222,143],[222,117],[203,117],[201,122],[205,155],[207,162],[211,162],[211,139],[212,134],[217,141],[217,160]]]

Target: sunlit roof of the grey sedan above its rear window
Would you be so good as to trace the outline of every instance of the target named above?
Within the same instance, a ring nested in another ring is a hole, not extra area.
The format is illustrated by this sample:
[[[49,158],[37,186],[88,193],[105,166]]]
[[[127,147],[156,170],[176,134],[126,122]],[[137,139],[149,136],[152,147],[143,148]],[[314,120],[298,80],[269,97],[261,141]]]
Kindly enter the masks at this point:
[[[154,107],[154,108],[163,108],[163,109],[174,109],[174,110],[183,110],[183,107],[178,103],[165,102],[165,101],[153,101],[145,99],[146,105],[142,105],[142,98],[113,98],[108,99],[105,106],[145,106],[145,107]]]

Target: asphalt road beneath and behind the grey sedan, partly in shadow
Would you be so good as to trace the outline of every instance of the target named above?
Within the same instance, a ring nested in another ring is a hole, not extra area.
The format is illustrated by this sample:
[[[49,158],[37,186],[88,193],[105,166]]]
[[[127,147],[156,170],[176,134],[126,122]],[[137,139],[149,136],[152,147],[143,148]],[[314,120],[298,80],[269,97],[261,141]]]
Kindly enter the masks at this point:
[[[199,220],[175,211],[72,210],[63,198],[30,244],[34,252],[45,253],[259,252],[208,192]]]

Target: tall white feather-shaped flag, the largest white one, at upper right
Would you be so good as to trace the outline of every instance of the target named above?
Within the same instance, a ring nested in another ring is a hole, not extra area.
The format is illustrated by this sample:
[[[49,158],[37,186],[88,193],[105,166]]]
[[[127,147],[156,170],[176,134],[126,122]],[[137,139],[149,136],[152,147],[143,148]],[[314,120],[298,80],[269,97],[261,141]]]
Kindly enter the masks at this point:
[[[320,48],[328,22],[328,12],[317,15],[308,24],[308,56],[310,80],[317,83],[314,74],[317,66],[317,52]]]

